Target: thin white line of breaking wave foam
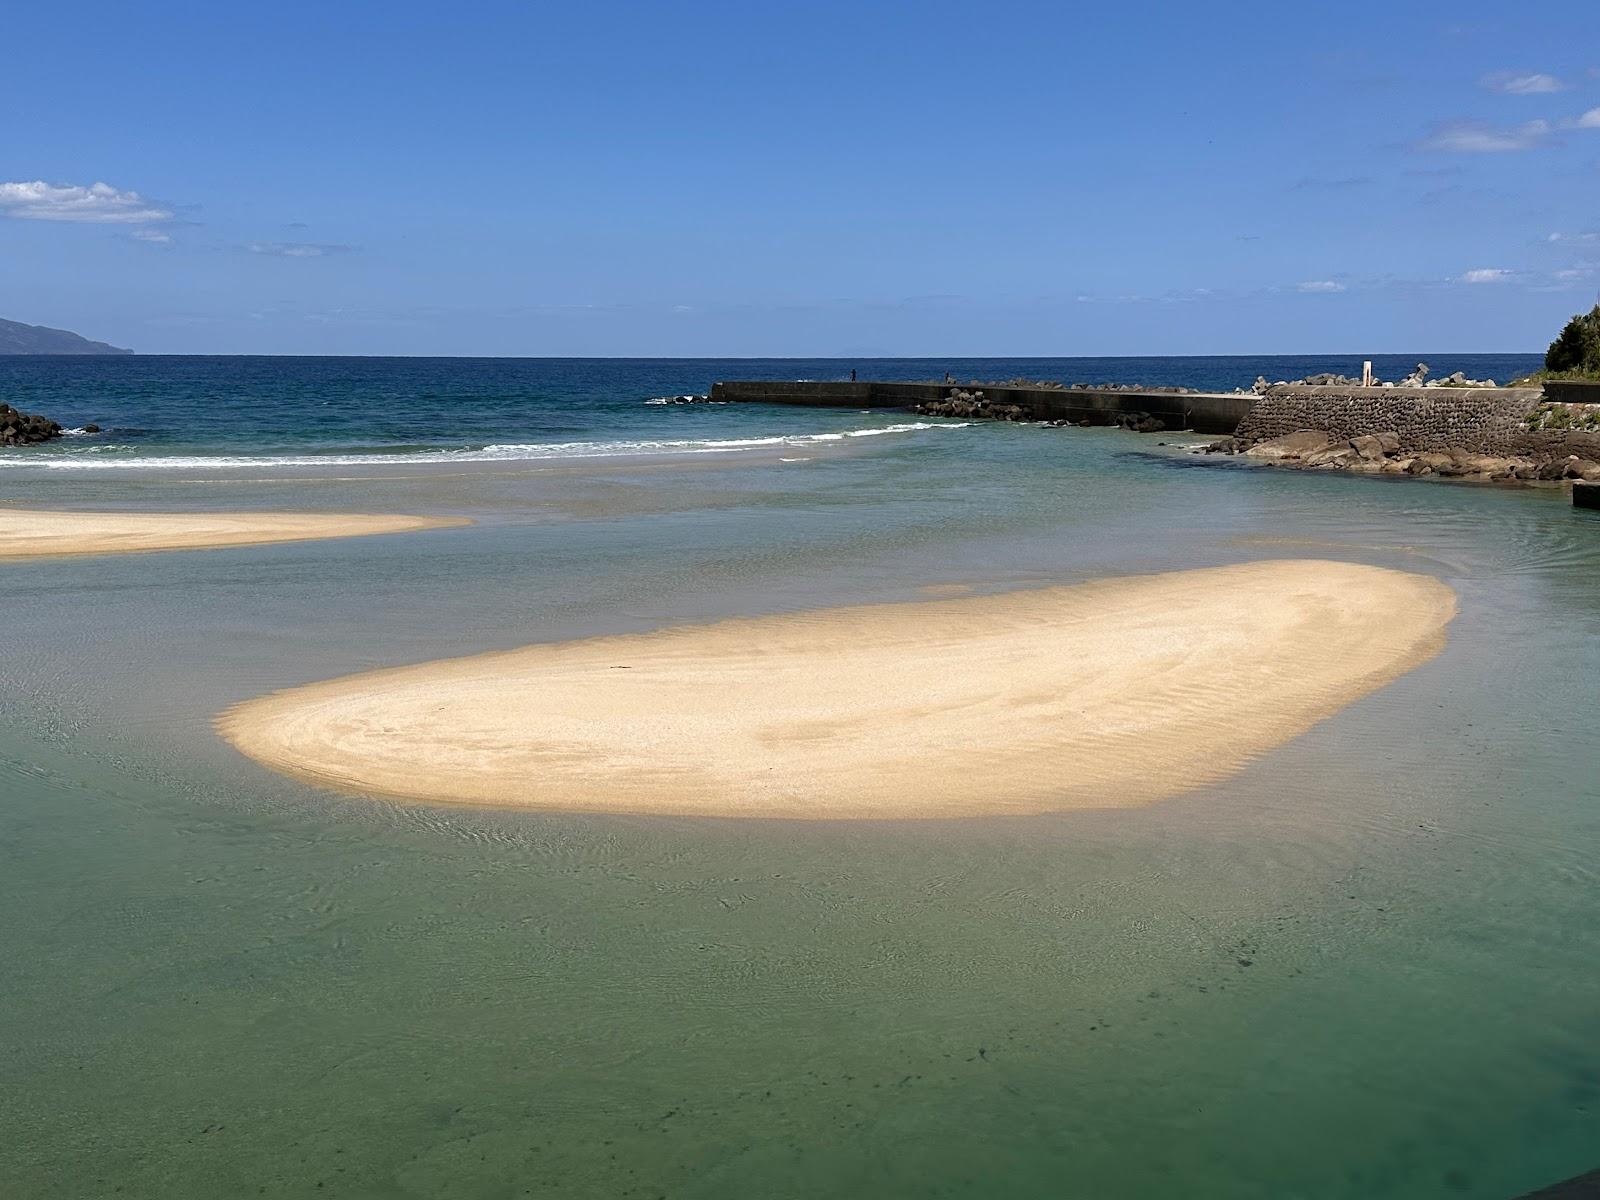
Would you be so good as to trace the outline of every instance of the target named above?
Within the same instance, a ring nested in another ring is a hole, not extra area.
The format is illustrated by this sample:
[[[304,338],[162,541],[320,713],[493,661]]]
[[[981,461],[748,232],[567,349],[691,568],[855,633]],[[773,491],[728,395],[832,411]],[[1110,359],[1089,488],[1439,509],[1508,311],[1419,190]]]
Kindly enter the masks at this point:
[[[478,450],[424,450],[397,454],[152,454],[112,458],[112,446],[72,454],[0,454],[0,467],[46,470],[226,470],[232,467],[373,467],[413,462],[531,462],[571,458],[627,458],[643,454],[728,454],[762,446],[806,446],[885,434],[920,434],[928,429],[966,429],[968,421],[912,421],[834,434],[779,434],[736,438],[667,438],[648,442],[512,442]],[[109,453],[110,451],[110,453]]]

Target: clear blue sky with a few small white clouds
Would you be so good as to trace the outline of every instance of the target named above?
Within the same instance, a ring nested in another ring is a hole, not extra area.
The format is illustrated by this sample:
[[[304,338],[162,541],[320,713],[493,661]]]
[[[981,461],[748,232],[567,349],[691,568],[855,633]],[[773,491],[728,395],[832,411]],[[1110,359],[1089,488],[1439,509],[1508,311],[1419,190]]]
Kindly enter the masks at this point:
[[[5,24],[0,315],[144,352],[1536,350],[1600,288],[1594,0]]]

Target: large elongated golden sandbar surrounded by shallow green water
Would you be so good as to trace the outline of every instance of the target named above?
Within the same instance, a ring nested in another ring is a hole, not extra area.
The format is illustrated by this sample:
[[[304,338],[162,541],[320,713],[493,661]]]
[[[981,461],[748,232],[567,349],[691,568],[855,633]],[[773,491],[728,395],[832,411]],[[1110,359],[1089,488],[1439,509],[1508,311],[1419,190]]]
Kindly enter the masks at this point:
[[[1262,562],[534,645],[246,701],[267,766],[419,802],[776,818],[1146,805],[1435,654],[1442,582]]]

